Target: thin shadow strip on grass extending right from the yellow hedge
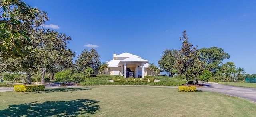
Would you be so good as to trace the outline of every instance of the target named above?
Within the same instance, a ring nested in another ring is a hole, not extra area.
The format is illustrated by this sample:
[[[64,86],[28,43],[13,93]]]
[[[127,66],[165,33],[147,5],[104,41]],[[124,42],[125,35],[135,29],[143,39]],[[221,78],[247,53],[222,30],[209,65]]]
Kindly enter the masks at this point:
[[[83,87],[83,88],[53,88],[53,89],[45,89],[44,92],[40,93],[51,93],[51,92],[76,92],[83,90],[91,90],[92,88]]]

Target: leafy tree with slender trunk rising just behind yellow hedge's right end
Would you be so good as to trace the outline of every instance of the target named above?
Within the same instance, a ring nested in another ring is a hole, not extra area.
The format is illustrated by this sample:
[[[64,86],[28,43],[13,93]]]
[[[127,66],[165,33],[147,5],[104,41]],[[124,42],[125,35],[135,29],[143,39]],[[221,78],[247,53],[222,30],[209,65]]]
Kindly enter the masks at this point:
[[[75,53],[67,47],[68,40],[65,34],[60,34],[56,31],[46,30],[42,33],[42,41],[38,48],[38,66],[41,70],[41,82],[44,82],[46,68],[54,70],[56,66],[62,68],[70,68],[73,66],[72,59]]]

